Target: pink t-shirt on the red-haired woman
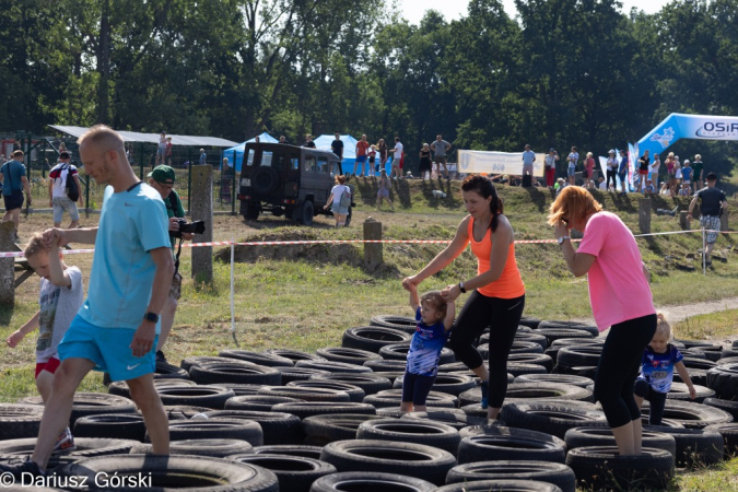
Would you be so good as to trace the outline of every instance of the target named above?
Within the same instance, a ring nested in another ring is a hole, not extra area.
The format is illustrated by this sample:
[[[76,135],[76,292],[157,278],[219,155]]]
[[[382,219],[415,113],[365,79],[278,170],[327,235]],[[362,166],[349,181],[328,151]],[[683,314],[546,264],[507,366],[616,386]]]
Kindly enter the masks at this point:
[[[618,215],[595,213],[587,222],[577,253],[596,257],[587,280],[591,313],[600,331],[656,314],[635,237]]]

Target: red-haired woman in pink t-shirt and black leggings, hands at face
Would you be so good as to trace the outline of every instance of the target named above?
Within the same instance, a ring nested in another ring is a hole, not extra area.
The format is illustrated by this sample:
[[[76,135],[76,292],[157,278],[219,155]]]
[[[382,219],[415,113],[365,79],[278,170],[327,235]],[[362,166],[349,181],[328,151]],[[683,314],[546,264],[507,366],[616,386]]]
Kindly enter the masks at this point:
[[[641,412],[633,385],[643,350],[656,331],[656,308],[635,237],[618,215],[604,211],[587,190],[575,186],[561,191],[548,219],[569,269],[576,277],[587,274],[597,328],[610,328],[597,367],[595,397],[620,456],[640,455]],[[576,250],[571,229],[584,233]]]

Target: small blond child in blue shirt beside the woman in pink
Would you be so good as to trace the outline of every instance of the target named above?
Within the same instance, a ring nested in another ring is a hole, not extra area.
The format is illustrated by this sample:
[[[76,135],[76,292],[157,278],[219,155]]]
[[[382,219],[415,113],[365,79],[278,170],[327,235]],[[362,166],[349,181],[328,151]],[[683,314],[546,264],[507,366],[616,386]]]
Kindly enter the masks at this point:
[[[696,397],[694,385],[689,377],[684,363],[681,362],[684,356],[675,345],[669,343],[671,339],[671,326],[663,313],[657,314],[657,325],[654,338],[643,351],[641,360],[641,374],[635,379],[633,393],[639,408],[646,399],[651,402],[648,412],[648,423],[651,425],[660,425],[664,418],[664,408],[666,407],[666,395],[671,389],[673,380],[673,370],[676,368],[689,388],[691,399]]]

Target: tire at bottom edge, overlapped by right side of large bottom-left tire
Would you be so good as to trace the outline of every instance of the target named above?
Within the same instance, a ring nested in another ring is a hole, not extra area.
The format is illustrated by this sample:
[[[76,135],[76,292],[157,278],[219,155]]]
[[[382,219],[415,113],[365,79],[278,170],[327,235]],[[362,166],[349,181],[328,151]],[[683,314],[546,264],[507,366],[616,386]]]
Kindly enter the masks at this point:
[[[230,456],[229,460],[271,470],[279,480],[279,489],[290,492],[309,492],[311,485],[317,479],[336,473],[336,467],[332,465],[302,456],[249,453]]]

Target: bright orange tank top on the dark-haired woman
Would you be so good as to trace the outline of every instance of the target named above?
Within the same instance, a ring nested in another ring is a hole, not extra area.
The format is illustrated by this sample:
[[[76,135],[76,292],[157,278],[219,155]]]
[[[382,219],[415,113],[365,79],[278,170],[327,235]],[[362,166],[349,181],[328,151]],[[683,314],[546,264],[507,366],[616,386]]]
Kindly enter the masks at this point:
[[[475,220],[469,218],[469,244],[471,253],[477,257],[477,274],[482,274],[490,270],[490,255],[492,254],[492,230],[487,229],[482,241],[475,239]],[[517,269],[515,261],[515,243],[511,243],[507,249],[507,261],[502,274],[492,283],[477,289],[480,294],[487,297],[515,298],[525,294],[525,285],[520,278],[520,270]]]

